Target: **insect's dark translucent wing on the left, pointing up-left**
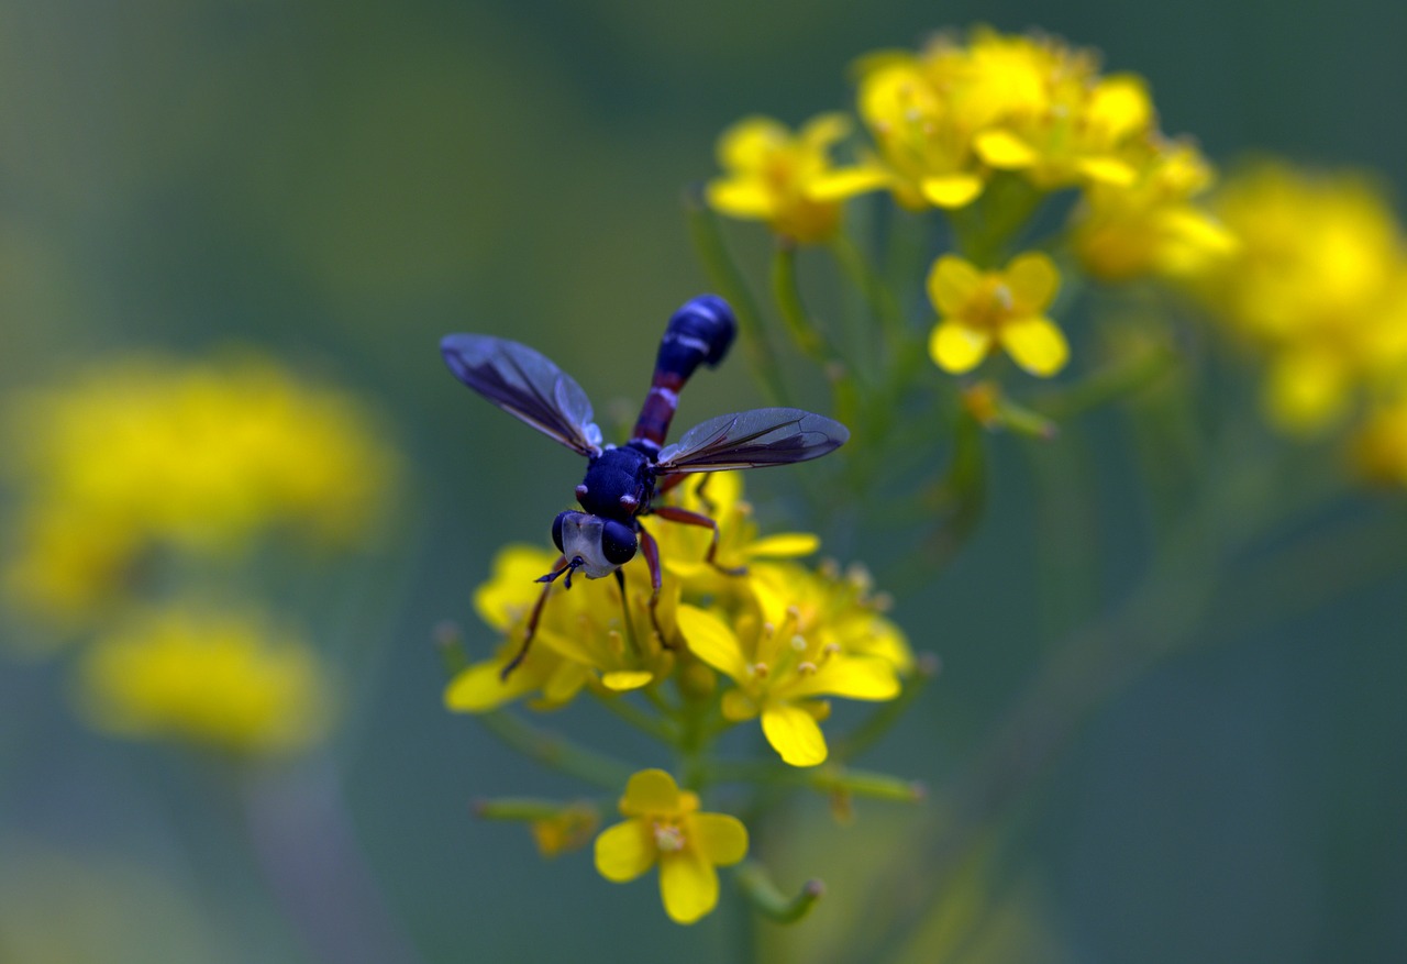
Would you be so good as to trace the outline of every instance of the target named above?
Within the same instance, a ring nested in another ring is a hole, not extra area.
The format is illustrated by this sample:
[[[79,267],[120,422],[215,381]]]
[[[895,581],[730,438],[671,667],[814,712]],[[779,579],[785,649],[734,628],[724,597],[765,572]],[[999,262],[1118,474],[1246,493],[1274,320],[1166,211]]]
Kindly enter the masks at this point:
[[[543,355],[491,335],[446,335],[440,353],[456,379],[509,415],[584,456],[601,453],[591,400]]]

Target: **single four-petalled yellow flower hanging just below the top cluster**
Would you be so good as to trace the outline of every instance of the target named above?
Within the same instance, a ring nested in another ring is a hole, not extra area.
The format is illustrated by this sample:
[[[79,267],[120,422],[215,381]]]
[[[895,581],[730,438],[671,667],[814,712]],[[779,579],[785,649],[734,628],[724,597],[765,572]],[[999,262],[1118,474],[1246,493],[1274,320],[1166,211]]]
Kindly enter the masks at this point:
[[[940,315],[929,353],[938,367],[961,374],[1000,345],[1031,374],[1055,374],[1069,357],[1065,335],[1044,315],[1058,287],[1055,265],[1038,252],[1017,256],[1002,272],[944,255],[929,273],[929,298]]]

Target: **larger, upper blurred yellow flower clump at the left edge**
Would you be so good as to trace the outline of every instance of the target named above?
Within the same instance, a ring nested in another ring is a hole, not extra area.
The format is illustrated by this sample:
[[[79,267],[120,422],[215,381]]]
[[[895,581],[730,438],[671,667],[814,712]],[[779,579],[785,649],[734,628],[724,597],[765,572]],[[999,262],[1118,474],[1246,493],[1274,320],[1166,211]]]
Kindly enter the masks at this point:
[[[229,554],[276,526],[352,545],[397,474],[357,400],[256,356],[115,359],[7,415],[6,590],[66,628],[125,592],[151,549]]]

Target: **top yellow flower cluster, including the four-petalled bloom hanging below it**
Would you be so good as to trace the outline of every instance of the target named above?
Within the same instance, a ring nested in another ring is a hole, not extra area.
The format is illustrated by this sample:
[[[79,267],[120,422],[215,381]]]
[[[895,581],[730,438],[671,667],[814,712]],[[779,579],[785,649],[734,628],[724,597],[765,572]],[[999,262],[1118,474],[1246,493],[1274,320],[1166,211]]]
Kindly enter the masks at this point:
[[[1065,335],[1044,314],[1059,284],[1055,263],[1010,252],[1020,256],[998,269],[1052,193],[1078,191],[1064,248],[1103,280],[1188,277],[1234,250],[1196,200],[1211,184],[1210,165],[1190,141],[1158,129],[1141,77],[1102,75],[1090,51],[976,28],[916,52],[871,53],[857,77],[857,114],[871,138],[857,160],[836,165],[827,153],[851,127],[844,115],[826,114],[799,135],[749,118],[723,134],[726,173],[708,198],[801,242],[833,239],[843,201],[861,193],[886,190],[902,208],[946,213],[960,253],[930,270],[940,319],[929,349],[947,372],[976,367],[996,346],[1036,376],[1065,366]]]

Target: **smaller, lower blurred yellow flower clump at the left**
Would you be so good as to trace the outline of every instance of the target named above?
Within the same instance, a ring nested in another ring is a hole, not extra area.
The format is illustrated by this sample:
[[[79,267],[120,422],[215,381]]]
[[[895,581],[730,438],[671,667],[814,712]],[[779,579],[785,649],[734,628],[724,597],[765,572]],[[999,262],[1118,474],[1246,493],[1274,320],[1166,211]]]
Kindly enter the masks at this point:
[[[260,614],[179,604],[94,640],[80,664],[79,697],[93,725],[117,736],[279,753],[325,735],[324,680],[312,650],[269,629]]]

